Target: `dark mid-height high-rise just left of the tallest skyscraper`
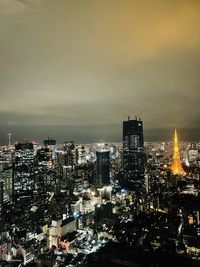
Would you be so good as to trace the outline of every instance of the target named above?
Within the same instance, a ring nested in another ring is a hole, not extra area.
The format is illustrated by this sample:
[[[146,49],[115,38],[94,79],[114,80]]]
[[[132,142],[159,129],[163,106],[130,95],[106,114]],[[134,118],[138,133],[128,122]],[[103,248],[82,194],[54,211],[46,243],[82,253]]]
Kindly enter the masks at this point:
[[[110,151],[97,151],[96,186],[103,187],[110,184]]]

